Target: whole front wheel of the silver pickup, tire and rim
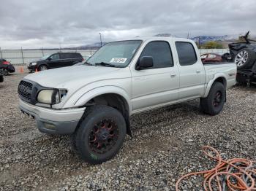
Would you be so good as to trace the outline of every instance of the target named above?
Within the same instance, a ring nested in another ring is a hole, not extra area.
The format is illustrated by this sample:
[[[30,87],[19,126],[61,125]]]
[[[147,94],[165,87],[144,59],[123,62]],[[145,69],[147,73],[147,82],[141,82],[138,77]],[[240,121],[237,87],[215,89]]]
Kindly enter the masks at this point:
[[[118,153],[126,132],[126,122],[118,110],[92,106],[75,132],[75,147],[86,162],[103,163]]]

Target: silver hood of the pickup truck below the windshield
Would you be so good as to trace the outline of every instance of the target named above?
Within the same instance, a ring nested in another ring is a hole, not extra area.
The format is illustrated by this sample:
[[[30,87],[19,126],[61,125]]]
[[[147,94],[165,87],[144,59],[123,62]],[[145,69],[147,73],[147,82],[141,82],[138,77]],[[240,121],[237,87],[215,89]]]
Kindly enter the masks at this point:
[[[50,69],[29,74],[24,79],[37,82],[44,87],[64,87],[66,84],[72,84],[75,81],[93,82],[99,79],[111,78],[111,73],[120,68],[105,66],[70,66],[60,69]]]

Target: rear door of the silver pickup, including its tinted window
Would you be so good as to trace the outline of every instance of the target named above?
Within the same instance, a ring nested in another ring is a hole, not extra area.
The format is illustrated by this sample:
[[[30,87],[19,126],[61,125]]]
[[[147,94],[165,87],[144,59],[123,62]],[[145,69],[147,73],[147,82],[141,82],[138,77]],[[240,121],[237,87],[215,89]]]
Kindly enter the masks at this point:
[[[205,69],[195,51],[195,43],[175,42],[180,74],[179,99],[200,97],[205,88]]]

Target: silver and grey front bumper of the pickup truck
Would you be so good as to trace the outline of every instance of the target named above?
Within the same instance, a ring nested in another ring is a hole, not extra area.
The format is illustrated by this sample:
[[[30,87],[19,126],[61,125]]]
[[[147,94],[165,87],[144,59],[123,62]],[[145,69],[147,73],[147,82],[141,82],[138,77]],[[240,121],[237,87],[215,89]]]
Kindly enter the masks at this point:
[[[27,104],[20,99],[20,111],[37,121],[37,128],[42,133],[68,135],[75,132],[86,108],[48,109]]]

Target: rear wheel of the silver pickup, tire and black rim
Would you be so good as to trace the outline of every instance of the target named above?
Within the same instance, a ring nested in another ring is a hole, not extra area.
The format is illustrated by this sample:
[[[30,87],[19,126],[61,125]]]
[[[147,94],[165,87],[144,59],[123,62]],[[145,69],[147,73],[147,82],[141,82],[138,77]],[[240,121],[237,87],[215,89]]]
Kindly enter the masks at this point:
[[[200,98],[200,107],[206,114],[219,114],[226,98],[226,90],[221,82],[214,82],[206,98]]]

